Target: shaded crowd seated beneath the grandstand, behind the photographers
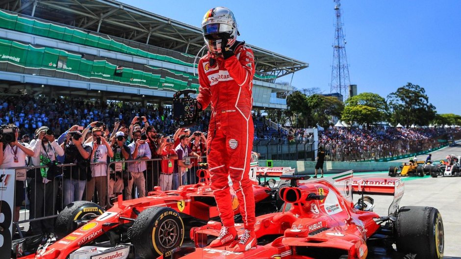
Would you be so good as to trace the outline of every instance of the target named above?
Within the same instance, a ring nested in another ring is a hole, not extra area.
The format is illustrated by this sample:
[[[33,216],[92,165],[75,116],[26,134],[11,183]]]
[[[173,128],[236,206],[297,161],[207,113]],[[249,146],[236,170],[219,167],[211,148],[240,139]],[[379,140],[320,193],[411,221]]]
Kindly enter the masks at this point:
[[[48,126],[55,134],[61,134],[73,125],[88,125],[104,121],[112,130],[115,118],[127,125],[133,116],[146,116],[158,132],[174,134],[171,106],[143,105],[133,102],[107,102],[62,97],[0,97],[0,125],[14,123],[21,129],[20,135],[33,135],[36,129]],[[207,131],[209,112],[201,113],[195,129]]]

